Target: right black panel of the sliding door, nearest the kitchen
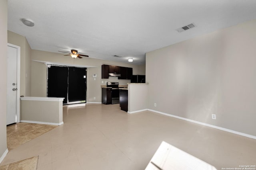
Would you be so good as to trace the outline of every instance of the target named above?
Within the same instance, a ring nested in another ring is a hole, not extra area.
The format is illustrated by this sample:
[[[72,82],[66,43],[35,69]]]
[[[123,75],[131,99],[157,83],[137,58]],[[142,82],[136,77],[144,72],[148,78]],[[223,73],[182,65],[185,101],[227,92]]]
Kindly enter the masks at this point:
[[[86,68],[69,67],[68,102],[86,100]]]

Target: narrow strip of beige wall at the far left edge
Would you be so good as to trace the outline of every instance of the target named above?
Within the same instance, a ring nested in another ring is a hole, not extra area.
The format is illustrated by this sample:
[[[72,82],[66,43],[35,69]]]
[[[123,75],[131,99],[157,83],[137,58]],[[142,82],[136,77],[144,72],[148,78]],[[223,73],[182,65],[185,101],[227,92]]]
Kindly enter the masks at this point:
[[[7,91],[7,0],[0,5],[0,158],[7,149],[6,144],[6,91]],[[3,157],[2,157],[3,158]],[[1,161],[0,161],[1,163]]]

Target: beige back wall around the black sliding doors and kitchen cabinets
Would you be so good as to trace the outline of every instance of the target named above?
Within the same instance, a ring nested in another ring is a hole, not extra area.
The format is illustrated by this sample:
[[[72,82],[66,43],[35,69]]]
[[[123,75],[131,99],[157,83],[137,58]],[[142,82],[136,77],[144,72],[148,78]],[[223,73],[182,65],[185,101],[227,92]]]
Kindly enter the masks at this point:
[[[127,84],[130,80],[118,80],[117,77],[109,79],[101,78],[101,65],[117,65],[132,67],[133,74],[145,73],[145,65],[134,65],[129,63],[120,63],[114,61],[106,61],[84,57],[83,59],[72,59],[69,56],[63,56],[59,53],[51,53],[46,51],[31,51],[31,59],[36,61],[47,61],[63,64],[74,64],[82,66],[92,66],[87,69],[87,102],[101,102],[100,85],[106,85],[105,81],[119,82],[119,84]],[[31,96],[46,97],[47,68],[46,64],[32,61],[31,63]],[[92,74],[97,74],[96,80],[92,78]],[[103,83],[102,83],[103,81]],[[94,100],[94,97],[96,99]]]

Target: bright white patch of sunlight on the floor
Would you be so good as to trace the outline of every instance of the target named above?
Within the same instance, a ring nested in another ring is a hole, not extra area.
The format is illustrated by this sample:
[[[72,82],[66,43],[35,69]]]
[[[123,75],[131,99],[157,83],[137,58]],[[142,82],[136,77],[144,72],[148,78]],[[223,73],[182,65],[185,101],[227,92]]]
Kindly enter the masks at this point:
[[[162,141],[145,170],[216,170],[216,168]]]

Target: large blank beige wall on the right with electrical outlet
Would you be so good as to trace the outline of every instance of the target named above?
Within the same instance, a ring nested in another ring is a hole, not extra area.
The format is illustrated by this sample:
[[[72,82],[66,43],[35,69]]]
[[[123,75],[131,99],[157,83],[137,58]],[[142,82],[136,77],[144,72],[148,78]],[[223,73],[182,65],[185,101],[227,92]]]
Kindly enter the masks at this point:
[[[147,53],[148,108],[256,136],[255,30],[248,21]]]

